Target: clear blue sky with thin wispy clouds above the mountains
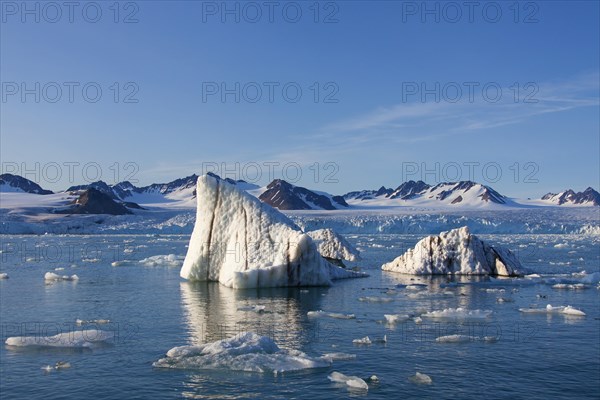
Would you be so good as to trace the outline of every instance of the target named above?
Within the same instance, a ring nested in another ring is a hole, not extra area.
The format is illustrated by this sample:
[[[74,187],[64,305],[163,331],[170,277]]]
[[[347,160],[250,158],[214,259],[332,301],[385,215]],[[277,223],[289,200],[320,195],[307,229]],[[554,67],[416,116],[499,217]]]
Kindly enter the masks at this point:
[[[336,194],[598,189],[598,2],[247,3],[78,2],[70,22],[28,2],[38,22],[2,2],[3,172],[54,190],[207,169]]]

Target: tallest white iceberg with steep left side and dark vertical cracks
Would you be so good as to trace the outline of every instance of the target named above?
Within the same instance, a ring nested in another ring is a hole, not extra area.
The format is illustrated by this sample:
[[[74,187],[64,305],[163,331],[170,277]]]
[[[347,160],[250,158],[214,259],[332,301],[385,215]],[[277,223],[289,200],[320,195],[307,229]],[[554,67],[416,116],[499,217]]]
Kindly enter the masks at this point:
[[[180,275],[232,288],[324,286],[359,276],[328,263],[285,215],[223,180],[204,175],[196,224]]]

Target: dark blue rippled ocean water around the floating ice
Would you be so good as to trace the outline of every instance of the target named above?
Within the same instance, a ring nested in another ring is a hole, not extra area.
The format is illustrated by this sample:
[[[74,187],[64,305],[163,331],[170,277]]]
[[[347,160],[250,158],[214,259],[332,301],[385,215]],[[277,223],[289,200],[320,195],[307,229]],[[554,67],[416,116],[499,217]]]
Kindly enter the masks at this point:
[[[600,270],[600,238],[582,235],[484,235],[508,246],[541,278],[408,277],[379,267],[422,235],[347,235],[370,276],[329,288],[233,290],[179,278],[188,235],[12,236],[1,239],[0,326],[12,336],[52,336],[101,329],[93,348],[0,347],[0,398],[589,398],[600,397],[600,290],[555,289]],[[150,256],[170,255],[158,262]],[[55,270],[55,269],[59,270]],[[61,269],[62,268],[62,269]],[[77,274],[47,284],[46,272]],[[412,285],[412,286],[407,286]],[[422,285],[422,286],[421,286]],[[361,300],[362,298],[362,300]],[[365,299],[368,298],[368,299]],[[508,301],[498,302],[498,298]],[[370,300],[370,301],[364,301]],[[525,314],[519,308],[571,305],[583,317]],[[248,311],[264,306],[263,312]],[[490,310],[488,318],[412,317],[446,308]],[[242,310],[240,310],[242,308]],[[309,311],[354,314],[311,318]],[[411,319],[389,325],[384,314]],[[109,320],[77,325],[81,320]],[[274,374],[228,369],[163,369],[153,362],[175,347],[242,331],[268,336],[310,357],[356,356],[331,366]],[[436,338],[460,334],[465,343]],[[353,344],[369,336],[385,343]],[[476,338],[493,337],[494,341]],[[45,371],[58,361],[68,369]],[[330,382],[338,371],[365,380],[368,391]],[[416,372],[429,385],[413,383]]]

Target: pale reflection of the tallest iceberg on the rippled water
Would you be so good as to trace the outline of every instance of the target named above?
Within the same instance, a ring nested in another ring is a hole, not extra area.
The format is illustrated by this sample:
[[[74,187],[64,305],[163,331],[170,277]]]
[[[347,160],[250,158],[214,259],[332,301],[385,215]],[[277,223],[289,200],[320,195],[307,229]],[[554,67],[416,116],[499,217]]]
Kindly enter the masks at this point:
[[[193,345],[252,331],[271,337],[281,348],[301,349],[322,334],[306,313],[319,309],[328,288],[236,290],[216,282],[182,282],[180,288]]]

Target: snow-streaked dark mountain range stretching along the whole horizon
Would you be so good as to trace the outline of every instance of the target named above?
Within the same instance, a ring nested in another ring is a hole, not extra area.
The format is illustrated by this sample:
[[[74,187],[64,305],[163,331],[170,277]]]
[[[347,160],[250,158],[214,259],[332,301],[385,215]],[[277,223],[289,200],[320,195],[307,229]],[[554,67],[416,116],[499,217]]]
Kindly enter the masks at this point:
[[[209,174],[217,179],[222,179],[215,174]],[[154,183],[142,187],[137,187],[128,181],[115,185],[98,181],[71,186],[60,193],[81,196],[85,191],[95,189],[123,204],[176,203],[185,207],[193,207],[197,179],[198,175],[193,174],[168,183]],[[395,189],[382,186],[379,189],[353,191],[343,196],[336,196],[296,186],[282,179],[275,179],[266,187],[243,180],[230,178],[223,180],[248,191],[261,201],[280,210],[336,210],[368,206],[485,207],[487,205],[519,205],[493,188],[472,181],[442,182],[432,186],[423,181],[411,180],[402,183]],[[29,179],[12,174],[0,175],[0,192],[24,192],[40,195],[53,193]],[[534,205],[599,206],[600,193],[591,187],[578,193],[568,189],[557,194],[548,193],[536,200]]]

